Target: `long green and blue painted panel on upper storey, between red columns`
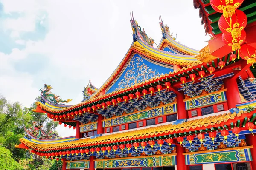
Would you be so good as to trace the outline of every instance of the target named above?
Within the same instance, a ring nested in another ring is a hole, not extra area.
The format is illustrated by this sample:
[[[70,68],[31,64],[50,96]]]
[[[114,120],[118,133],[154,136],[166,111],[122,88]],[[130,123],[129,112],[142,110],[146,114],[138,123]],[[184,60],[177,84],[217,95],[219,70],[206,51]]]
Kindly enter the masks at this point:
[[[164,114],[171,114],[177,112],[176,103],[164,105],[156,108],[151,108],[148,111],[142,111],[139,113],[132,113],[124,116],[117,116],[110,119],[103,120],[103,127],[120,125],[123,123],[134,122],[137,120],[148,119],[151,117],[161,116]]]

